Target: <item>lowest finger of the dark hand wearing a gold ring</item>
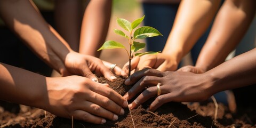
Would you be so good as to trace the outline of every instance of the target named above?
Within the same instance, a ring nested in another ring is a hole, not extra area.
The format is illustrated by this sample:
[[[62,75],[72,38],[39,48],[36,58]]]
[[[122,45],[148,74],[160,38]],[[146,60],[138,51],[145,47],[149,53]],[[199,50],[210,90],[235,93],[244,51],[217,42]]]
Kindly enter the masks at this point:
[[[162,106],[166,102],[171,102],[172,100],[171,93],[159,95],[148,107],[148,110],[155,111],[157,108]]]

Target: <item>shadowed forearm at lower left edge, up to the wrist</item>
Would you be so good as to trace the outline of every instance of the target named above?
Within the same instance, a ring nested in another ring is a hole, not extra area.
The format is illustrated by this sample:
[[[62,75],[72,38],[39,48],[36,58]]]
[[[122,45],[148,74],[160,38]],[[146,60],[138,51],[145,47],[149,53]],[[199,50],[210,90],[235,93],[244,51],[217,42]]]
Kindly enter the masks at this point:
[[[1,100],[42,106],[42,97],[47,94],[46,77],[4,63],[0,63],[0,70]]]

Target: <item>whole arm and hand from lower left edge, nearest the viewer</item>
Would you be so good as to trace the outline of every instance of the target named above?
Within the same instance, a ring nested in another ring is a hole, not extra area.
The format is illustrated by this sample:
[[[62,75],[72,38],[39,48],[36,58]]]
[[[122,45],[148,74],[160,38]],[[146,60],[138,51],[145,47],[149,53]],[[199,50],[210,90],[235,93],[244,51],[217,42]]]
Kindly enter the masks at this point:
[[[0,100],[41,108],[57,116],[102,124],[124,114],[125,99],[108,84],[81,76],[44,77],[0,63]],[[97,111],[95,111],[97,110]]]

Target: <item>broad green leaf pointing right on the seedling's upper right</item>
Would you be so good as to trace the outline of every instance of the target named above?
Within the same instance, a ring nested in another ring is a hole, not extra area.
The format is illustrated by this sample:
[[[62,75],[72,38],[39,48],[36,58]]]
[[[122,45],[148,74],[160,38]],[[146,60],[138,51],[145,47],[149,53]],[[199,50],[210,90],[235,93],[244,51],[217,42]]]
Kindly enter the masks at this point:
[[[134,31],[133,37],[135,39],[142,39],[147,37],[163,36],[153,27],[143,26]]]

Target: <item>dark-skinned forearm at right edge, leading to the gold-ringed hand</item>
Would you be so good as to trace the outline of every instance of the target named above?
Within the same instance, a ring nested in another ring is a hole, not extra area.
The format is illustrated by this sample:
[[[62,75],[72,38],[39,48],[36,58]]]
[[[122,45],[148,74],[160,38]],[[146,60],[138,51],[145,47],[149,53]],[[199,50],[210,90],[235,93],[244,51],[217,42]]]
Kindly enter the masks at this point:
[[[214,79],[210,90],[217,93],[255,84],[255,54],[256,48],[207,71],[205,74]]]

